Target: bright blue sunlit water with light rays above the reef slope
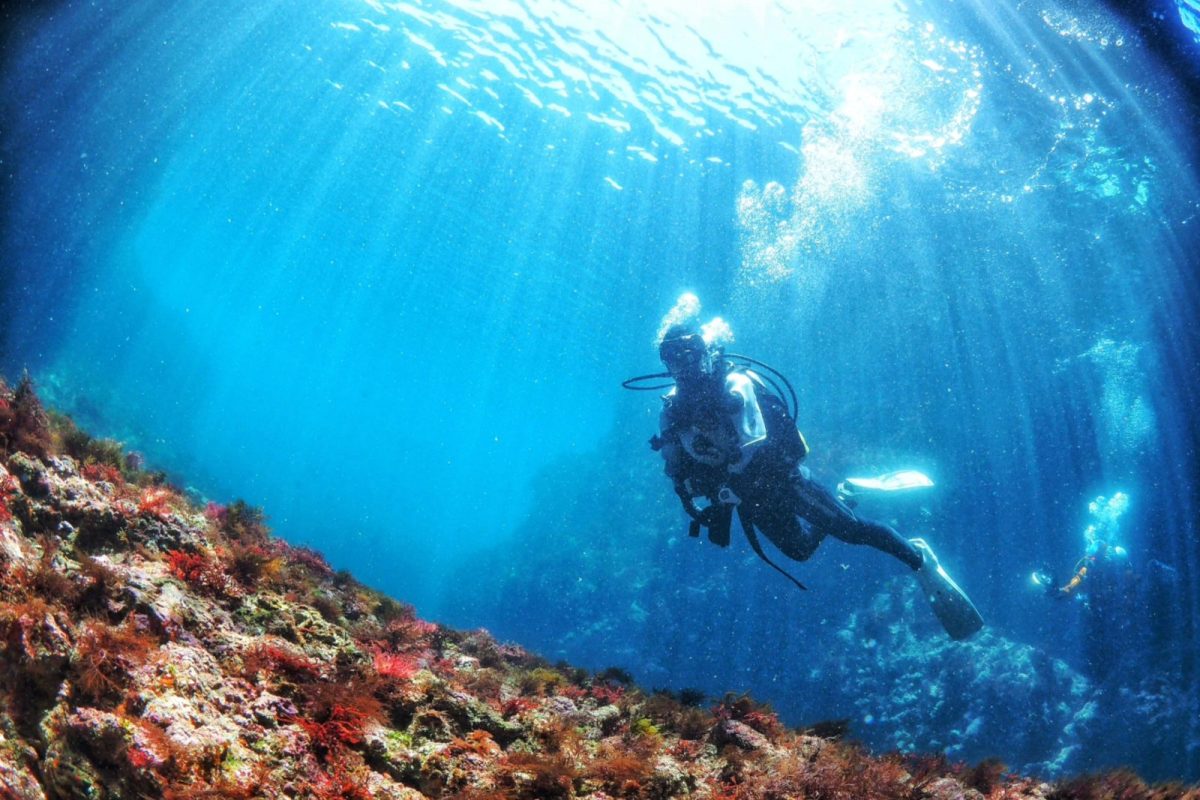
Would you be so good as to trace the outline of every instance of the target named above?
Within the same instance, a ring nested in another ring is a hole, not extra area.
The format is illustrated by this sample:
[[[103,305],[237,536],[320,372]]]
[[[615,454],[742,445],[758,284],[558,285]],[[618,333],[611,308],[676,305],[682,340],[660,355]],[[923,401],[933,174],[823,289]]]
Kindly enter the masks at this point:
[[[691,5],[29,12],[0,367],[425,615],[881,748],[1200,778],[1200,56],[1091,2]],[[618,389],[683,290],[791,375],[820,480],[934,479],[870,511],[988,619],[949,676],[830,666],[868,609],[928,624],[884,557],[828,541],[797,595],[683,535]],[[1048,602],[1117,491],[1135,579]],[[1087,687],[1054,752],[1012,715],[1043,673]]]

